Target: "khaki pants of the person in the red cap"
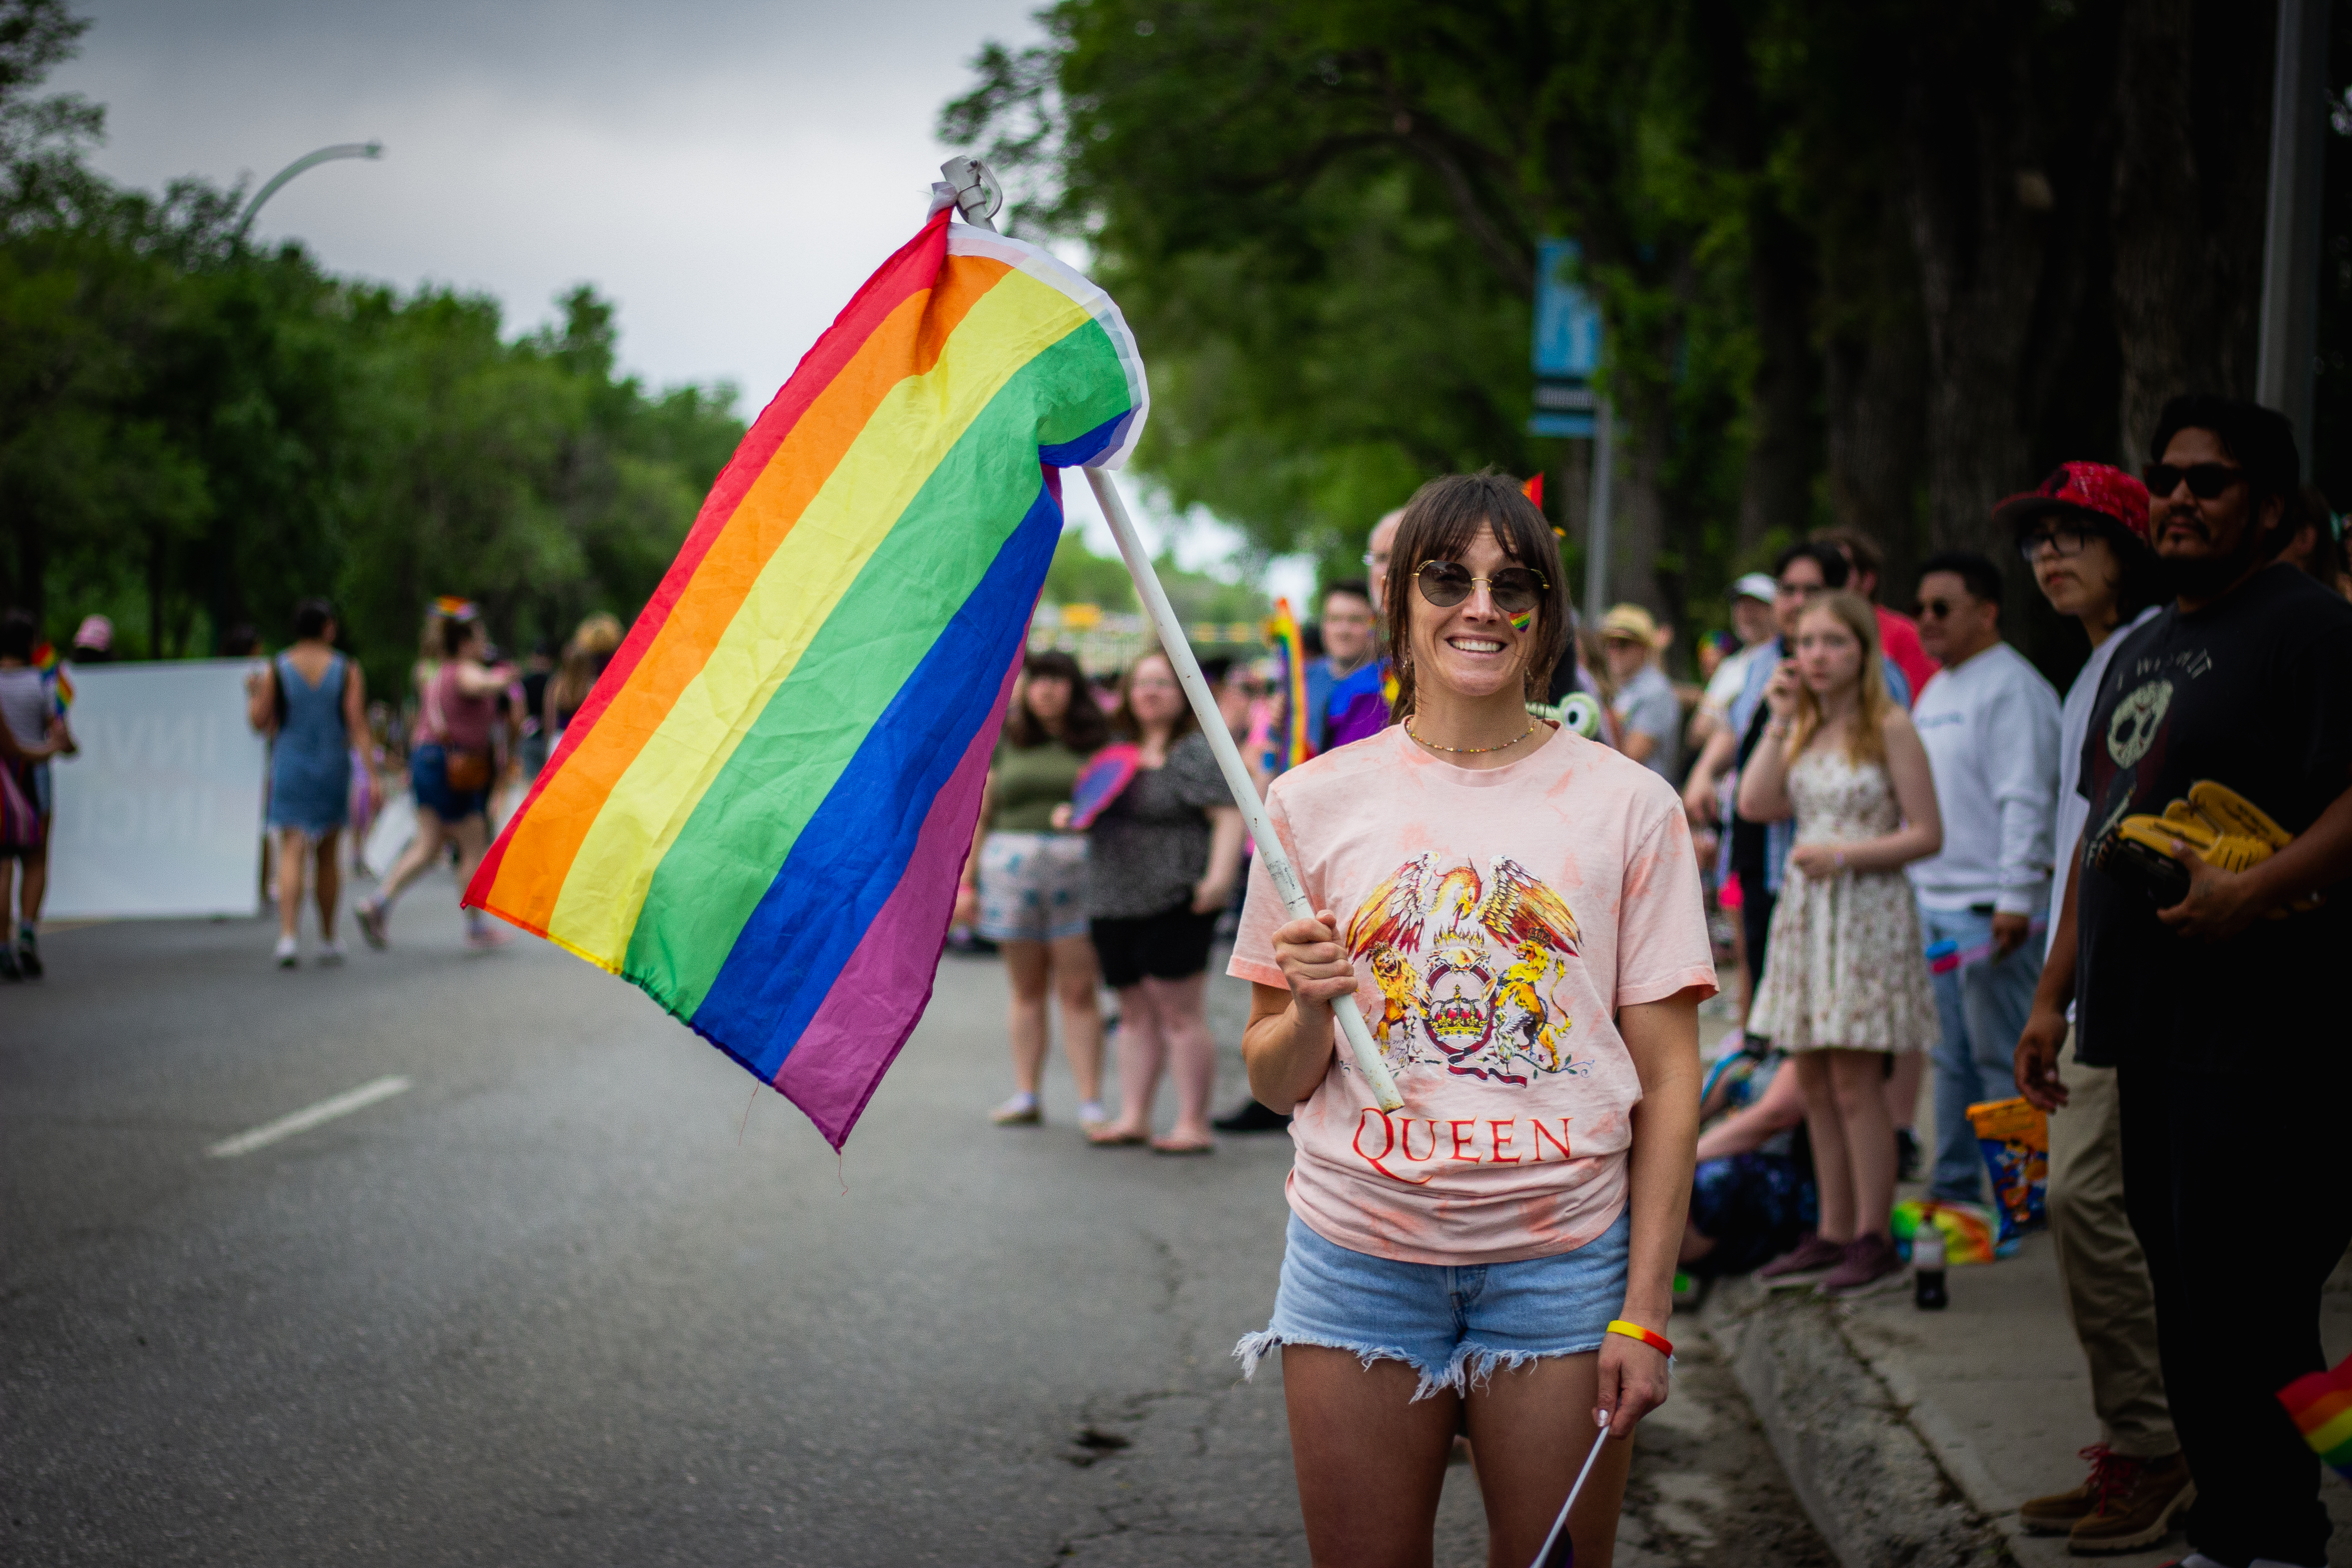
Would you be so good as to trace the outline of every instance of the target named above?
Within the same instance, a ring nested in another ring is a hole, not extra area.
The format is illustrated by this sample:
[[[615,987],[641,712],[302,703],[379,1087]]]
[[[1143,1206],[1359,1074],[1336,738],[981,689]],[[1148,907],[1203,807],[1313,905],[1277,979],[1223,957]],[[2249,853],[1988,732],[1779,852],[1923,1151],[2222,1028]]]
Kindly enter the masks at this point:
[[[2074,1340],[2091,1361],[2098,1434],[2119,1455],[2154,1460],[2180,1450],[2157,1366],[2157,1300],[2147,1258],[2124,1213],[2124,1133],[2114,1067],[2074,1060],[2067,1030],[2058,1077],[2065,1110],[2051,1117],[2051,1239]]]

